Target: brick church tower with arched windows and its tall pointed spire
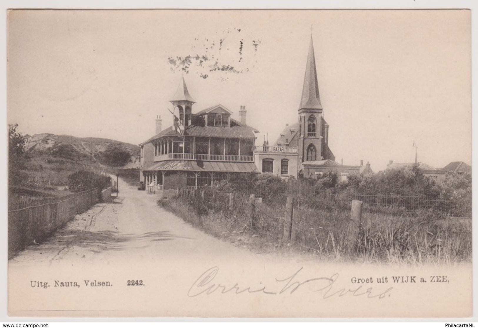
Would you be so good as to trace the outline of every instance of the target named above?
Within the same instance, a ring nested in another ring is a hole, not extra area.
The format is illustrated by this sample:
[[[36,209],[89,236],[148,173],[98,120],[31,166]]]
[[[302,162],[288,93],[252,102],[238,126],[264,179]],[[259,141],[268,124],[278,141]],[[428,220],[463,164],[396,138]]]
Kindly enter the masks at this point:
[[[299,167],[303,162],[321,159],[335,160],[328,148],[328,124],[324,120],[320,102],[314,44],[310,36],[309,53],[305,66],[304,86],[299,106]]]

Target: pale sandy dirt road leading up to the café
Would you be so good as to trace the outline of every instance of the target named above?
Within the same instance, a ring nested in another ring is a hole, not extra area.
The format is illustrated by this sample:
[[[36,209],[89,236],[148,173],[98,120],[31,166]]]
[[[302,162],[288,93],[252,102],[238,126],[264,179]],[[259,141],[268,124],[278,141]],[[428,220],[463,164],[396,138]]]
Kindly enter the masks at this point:
[[[96,204],[59,229],[41,245],[33,245],[10,264],[43,265],[142,261],[163,256],[210,258],[244,253],[160,208],[158,196],[120,181],[119,197]]]

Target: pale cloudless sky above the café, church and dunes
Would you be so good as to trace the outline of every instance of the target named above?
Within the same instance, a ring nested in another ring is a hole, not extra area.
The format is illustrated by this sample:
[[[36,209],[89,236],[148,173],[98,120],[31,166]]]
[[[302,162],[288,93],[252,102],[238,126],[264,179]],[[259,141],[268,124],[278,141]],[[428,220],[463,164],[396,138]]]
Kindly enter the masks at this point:
[[[245,105],[273,142],[297,121],[311,33],[338,162],[413,162],[414,141],[418,161],[471,164],[467,10],[10,11],[7,121],[139,144],[156,115],[172,124],[184,77],[193,113]]]

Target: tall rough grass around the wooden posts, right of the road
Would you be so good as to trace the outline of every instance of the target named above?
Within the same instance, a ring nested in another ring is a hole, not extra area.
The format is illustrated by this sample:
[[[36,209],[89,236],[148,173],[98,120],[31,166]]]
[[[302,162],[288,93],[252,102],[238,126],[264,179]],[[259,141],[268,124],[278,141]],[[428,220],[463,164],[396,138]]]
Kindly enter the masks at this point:
[[[350,253],[347,210],[297,206],[293,240],[287,240],[283,238],[284,206],[257,205],[251,228],[247,197],[237,195],[232,210],[228,209],[225,197],[222,198],[216,197],[215,206],[185,197],[160,200],[158,204],[215,237],[259,252],[295,249],[323,260],[365,263],[471,262],[469,218],[446,217],[430,210],[403,215],[364,211],[359,238]]]

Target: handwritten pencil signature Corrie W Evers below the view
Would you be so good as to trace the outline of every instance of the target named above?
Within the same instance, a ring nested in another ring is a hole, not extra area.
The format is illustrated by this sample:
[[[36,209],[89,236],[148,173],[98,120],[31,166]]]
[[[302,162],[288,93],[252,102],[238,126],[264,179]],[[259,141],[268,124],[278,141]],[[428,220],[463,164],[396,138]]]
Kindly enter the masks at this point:
[[[357,287],[354,286],[354,288],[352,289],[339,288],[335,286],[338,279],[338,273],[334,273],[330,277],[314,277],[301,281],[299,279],[296,279],[296,276],[299,275],[299,272],[302,271],[302,269],[303,268],[300,268],[287,278],[275,278],[276,286],[274,287],[261,286],[261,288],[252,288],[241,287],[239,286],[239,283],[235,283],[234,285],[217,283],[216,276],[219,272],[219,268],[212,267],[210,269],[207,269],[199,276],[199,278],[196,279],[196,281],[189,288],[187,295],[189,297],[195,297],[201,294],[209,295],[213,293],[263,293],[269,295],[278,295],[288,292],[289,294],[293,294],[304,285],[309,285],[312,287],[312,292],[323,292],[322,298],[324,299],[330,298],[332,296],[342,297],[347,294],[352,296],[366,296],[367,298],[384,298],[386,296],[390,296],[391,290],[393,289],[393,287],[389,287],[384,292],[376,293],[373,291],[372,287],[365,289],[365,287],[363,287],[362,285],[359,285]]]

